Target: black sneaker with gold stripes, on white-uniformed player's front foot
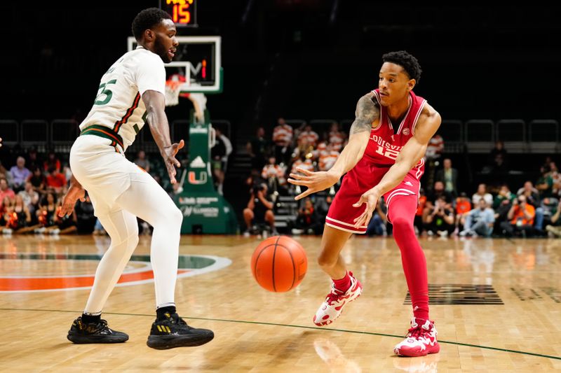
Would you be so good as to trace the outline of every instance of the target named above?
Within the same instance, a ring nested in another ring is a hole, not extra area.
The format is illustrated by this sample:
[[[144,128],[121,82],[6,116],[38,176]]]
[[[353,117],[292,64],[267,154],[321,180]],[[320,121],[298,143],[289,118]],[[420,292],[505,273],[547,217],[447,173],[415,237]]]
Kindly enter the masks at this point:
[[[165,314],[165,319],[154,321],[146,344],[152,349],[167,350],[175,347],[201,346],[212,341],[212,330],[191,328],[178,314]]]

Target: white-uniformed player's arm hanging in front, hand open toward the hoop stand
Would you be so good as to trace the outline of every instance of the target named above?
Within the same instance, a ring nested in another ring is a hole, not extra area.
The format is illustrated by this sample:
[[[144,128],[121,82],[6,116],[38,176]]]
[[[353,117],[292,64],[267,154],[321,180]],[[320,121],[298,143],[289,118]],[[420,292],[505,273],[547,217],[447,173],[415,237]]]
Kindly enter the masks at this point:
[[[168,118],[165,116],[165,97],[161,92],[147,90],[142,94],[142,101],[146,106],[146,120],[150,127],[150,132],[160,154],[165,162],[165,168],[168,169],[170,183],[175,184],[175,167],[180,167],[181,163],[175,159],[177,152],[185,145],[181,140],[179,143],[171,143],[170,126]]]

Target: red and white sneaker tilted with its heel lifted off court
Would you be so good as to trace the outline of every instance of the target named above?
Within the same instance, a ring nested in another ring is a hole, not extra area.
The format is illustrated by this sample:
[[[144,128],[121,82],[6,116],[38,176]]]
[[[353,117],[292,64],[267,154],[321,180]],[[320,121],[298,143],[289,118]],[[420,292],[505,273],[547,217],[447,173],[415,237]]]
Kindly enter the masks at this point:
[[[363,293],[363,286],[360,282],[353,276],[353,272],[349,272],[351,276],[351,287],[343,293],[341,290],[335,288],[335,284],[331,284],[331,293],[325,298],[313,316],[313,323],[318,326],[329,325],[333,321],[337,320],[341,313],[343,312],[343,306],[347,303],[353,302],[356,298],[360,297]]]

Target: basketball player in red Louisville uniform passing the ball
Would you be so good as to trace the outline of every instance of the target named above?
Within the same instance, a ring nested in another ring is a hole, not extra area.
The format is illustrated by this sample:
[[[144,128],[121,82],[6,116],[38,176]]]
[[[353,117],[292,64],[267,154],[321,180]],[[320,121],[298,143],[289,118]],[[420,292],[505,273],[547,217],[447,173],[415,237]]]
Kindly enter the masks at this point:
[[[360,97],[348,145],[329,171],[290,174],[290,183],[308,189],[296,199],[330,188],[343,178],[325,218],[318,258],[331,276],[332,290],[313,322],[328,325],[341,315],[345,304],[362,293],[363,286],[347,272],[341,252],[353,233],[363,234],[378,199],[384,196],[393,237],[413,304],[407,337],[393,350],[400,356],[438,353],[433,321],[428,317],[426,260],[414,233],[413,220],[419,199],[419,179],[424,171],[428,141],[440,126],[440,115],[413,93],[421,76],[417,59],[405,51],[382,56],[378,89]]]

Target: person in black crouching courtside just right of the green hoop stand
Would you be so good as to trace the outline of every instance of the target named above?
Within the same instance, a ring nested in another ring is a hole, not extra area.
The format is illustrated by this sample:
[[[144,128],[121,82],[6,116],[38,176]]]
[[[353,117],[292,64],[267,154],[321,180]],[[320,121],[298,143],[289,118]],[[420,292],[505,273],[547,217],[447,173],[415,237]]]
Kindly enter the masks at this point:
[[[267,185],[265,183],[255,185],[250,194],[248,206],[243,210],[243,220],[245,220],[246,227],[243,235],[248,237],[252,233],[254,223],[267,223],[271,227],[271,234],[273,236],[278,235],[273,214],[273,202],[269,200]]]

